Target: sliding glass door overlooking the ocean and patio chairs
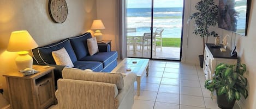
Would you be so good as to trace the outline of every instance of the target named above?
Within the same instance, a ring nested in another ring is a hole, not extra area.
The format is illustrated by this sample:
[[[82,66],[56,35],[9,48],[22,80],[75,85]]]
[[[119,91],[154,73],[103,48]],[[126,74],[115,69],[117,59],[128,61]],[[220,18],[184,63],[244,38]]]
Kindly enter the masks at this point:
[[[127,0],[126,6],[127,56],[180,60],[183,0]]]

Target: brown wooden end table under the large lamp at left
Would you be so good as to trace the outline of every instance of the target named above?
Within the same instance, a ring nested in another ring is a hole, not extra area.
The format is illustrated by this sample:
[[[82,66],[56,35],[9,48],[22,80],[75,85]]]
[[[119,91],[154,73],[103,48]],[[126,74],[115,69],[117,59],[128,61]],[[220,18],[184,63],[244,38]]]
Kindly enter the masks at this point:
[[[41,109],[55,103],[55,67],[33,66],[33,69],[39,73],[23,76],[20,72],[12,72],[3,75],[7,81],[12,109]]]

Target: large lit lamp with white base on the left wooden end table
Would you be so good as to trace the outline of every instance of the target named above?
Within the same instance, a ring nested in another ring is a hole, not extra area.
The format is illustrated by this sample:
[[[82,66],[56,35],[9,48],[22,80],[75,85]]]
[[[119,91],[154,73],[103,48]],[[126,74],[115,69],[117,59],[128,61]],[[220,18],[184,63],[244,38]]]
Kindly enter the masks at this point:
[[[13,31],[10,36],[7,51],[18,52],[15,62],[19,70],[32,68],[33,59],[28,55],[27,50],[37,48],[37,43],[26,30]]]

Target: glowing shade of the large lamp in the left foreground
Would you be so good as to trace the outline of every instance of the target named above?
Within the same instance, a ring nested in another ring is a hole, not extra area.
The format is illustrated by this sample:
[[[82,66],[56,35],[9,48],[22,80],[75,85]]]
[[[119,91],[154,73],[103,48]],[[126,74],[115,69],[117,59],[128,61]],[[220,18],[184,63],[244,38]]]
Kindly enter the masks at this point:
[[[7,50],[9,52],[20,52],[37,48],[37,43],[26,30],[13,31],[10,36]]]

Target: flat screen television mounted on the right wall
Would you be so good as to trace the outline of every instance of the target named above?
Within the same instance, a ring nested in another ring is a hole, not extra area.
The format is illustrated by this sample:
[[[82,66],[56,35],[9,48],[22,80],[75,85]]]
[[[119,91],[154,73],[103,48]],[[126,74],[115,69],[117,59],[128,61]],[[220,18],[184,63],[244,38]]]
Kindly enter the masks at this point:
[[[219,0],[218,27],[246,36],[251,0]]]

